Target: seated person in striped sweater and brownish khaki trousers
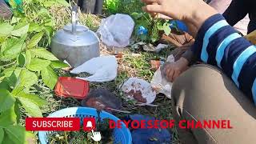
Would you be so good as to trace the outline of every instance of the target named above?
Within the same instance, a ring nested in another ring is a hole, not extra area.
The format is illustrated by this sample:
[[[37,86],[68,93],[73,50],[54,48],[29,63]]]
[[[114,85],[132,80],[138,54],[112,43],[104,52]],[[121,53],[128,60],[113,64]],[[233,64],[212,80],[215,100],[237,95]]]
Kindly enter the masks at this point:
[[[195,58],[205,63],[191,66],[174,80],[175,122],[224,119],[230,120],[233,127],[222,130],[178,127],[181,142],[255,143],[256,46],[202,0],[142,2],[146,3],[143,7],[146,12],[185,22],[195,38],[192,47]],[[162,72],[169,77],[167,66]]]

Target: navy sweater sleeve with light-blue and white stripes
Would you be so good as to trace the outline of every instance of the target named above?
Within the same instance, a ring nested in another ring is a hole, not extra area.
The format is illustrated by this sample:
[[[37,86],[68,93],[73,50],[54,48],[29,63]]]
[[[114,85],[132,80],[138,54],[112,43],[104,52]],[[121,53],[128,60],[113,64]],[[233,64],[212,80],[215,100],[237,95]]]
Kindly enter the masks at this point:
[[[221,14],[204,22],[192,51],[202,62],[222,69],[256,103],[256,46],[242,38]]]

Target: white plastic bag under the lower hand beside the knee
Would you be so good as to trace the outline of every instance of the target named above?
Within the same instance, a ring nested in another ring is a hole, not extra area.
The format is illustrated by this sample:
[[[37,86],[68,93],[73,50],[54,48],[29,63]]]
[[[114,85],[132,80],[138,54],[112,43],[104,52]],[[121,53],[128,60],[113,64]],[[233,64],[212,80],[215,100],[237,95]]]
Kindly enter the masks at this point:
[[[166,62],[174,62],[174,56],[170,55]],[[151,80],[151,86],[154,87],[157,94],[165,94],[167,98],[171,98],[172,85],[173,84],[171,82],[167,82],[166,78],[162,78],[160,68],[154,73]]]

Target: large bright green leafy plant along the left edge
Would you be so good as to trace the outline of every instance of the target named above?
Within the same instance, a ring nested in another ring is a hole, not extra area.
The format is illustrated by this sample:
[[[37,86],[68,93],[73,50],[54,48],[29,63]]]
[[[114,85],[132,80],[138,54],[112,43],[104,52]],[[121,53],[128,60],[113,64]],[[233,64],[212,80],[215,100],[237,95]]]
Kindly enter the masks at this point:
[[[46,101],[30,92],[42,79],[50,89],[58,80],[56,69],[67,66],[46,47],[54,34],[49,6],[69,6],[65,0],[24,0],[22,10],[14,0],[14,17],[0,21],[0,143],[27,143],[34,134],[20,126],[21,110],[42,117]]]

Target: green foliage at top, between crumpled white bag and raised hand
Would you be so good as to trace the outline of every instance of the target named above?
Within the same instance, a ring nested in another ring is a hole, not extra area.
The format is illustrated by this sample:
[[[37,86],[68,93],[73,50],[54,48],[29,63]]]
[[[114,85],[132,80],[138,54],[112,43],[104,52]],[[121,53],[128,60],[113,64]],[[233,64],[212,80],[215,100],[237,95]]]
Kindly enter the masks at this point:
[[[170,23],[167,20],[151,18],[143,12],[141,0],[105,0],[104,11],[110,14],[129,14],[135,22],[134,37],[136,42],[158,42],[161,34],[170,34]],[[147,34],[137,34],[139,26],[148,30]]]

